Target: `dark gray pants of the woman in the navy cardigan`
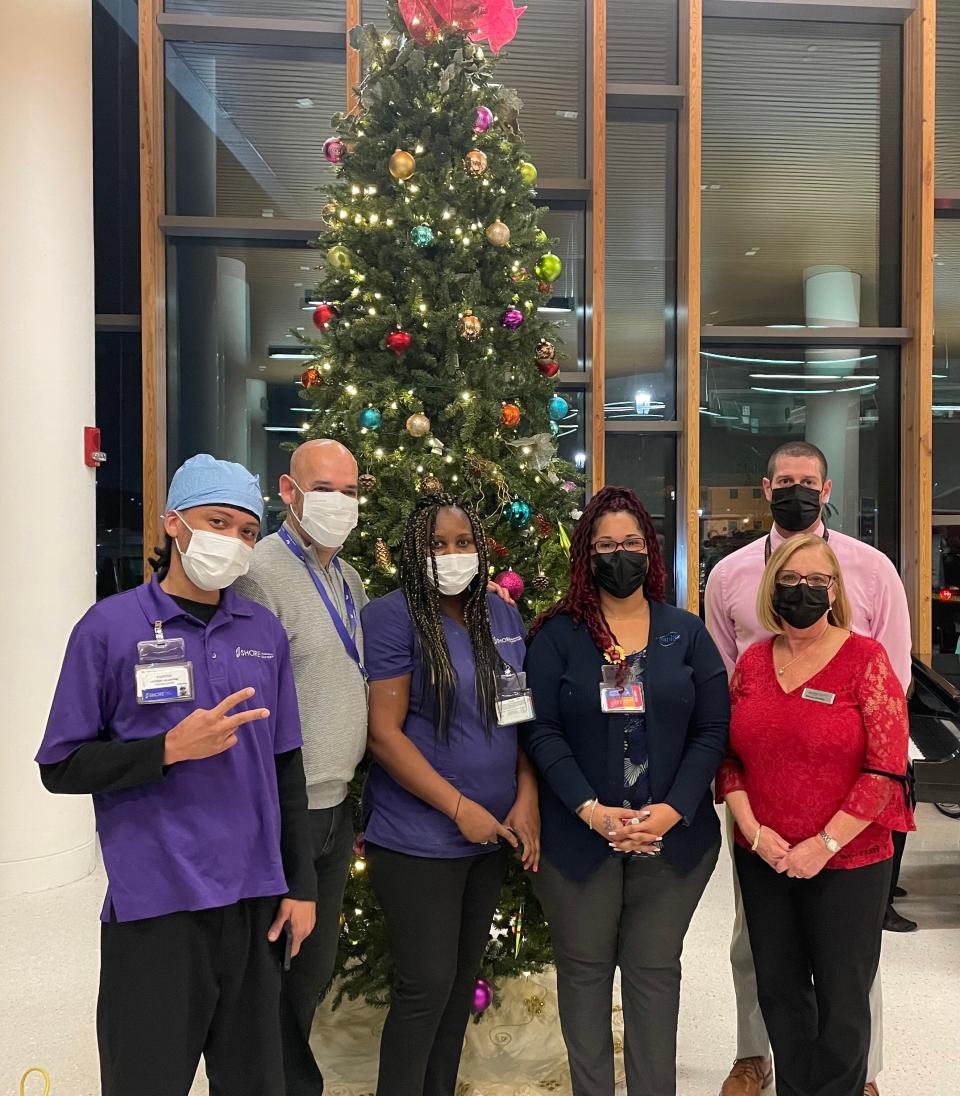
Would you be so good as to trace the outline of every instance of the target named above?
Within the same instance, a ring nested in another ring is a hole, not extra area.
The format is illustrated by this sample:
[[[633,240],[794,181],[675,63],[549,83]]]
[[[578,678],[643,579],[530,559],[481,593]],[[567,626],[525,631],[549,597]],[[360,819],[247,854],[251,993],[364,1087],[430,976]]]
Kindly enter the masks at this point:
[[[610,1024],[620,968],[629,1096],[676,1096],[681,952],[719,842],[687,875],[666,860],[610,857],[575,882],[548,860],[534,877],[550,923],[573,1096],[613,1096]]]

